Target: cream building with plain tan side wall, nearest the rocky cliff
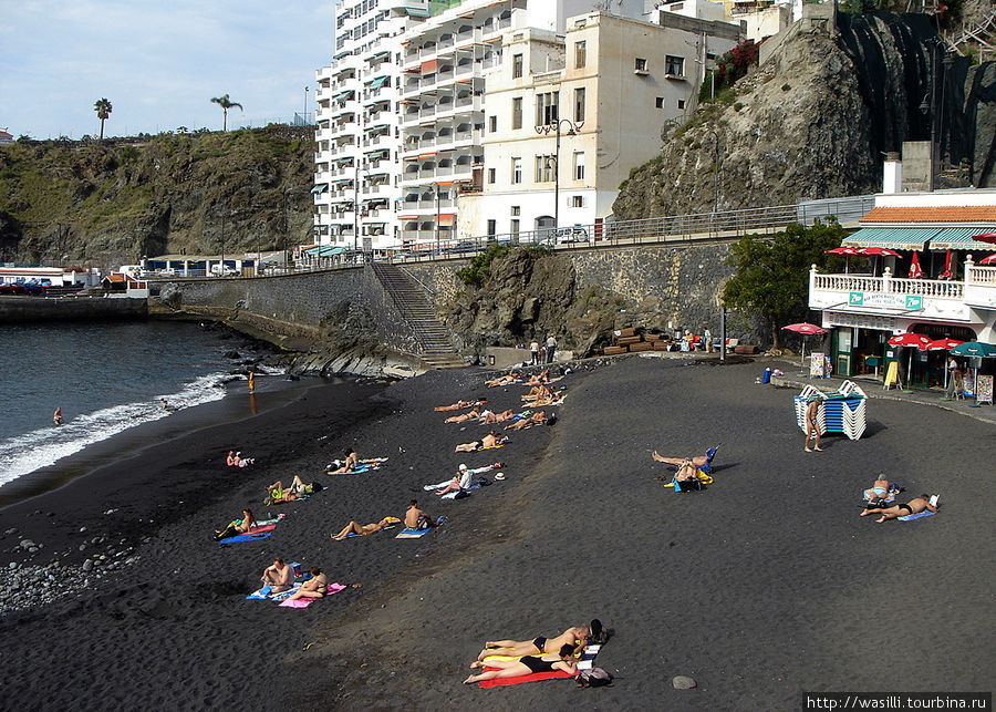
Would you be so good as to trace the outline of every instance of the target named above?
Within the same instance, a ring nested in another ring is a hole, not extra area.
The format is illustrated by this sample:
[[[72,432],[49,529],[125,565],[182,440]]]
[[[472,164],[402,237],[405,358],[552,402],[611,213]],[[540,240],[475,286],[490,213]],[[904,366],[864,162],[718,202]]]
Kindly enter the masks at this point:
[[[707,54],[739,39],[729,22],[658,19],[589,12],[563,33],[505,32],[486,74],[481,190],[460,196],[460,235],[543,237],[556,224],[599,237],[630,169],[660,153],[665,123],[691,113]]]

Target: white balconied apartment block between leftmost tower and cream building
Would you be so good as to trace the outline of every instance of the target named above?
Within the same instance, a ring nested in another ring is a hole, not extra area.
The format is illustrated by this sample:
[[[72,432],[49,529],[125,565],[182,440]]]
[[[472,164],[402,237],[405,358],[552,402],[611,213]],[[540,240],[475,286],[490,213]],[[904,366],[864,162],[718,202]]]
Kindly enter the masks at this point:
[[[486,76],[502,65],[508,32],[566,29],[592,0],[448,0],[403,38],[401,84],[401,239],[406,245],[452,239],[463,197],[484,187]],[[642,17],[644,0],[613,11]]]

